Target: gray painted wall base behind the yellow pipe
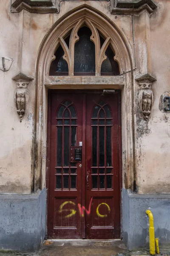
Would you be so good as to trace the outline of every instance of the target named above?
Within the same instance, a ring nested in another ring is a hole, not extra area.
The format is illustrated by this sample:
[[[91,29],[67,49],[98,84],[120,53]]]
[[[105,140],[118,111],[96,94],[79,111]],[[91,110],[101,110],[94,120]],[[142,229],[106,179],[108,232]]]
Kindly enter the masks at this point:
[[[122,189],[122,236],[128,249],[149,249],[147,209],[153,213],[159,247],[170,248],[170,195],[138,195]]]

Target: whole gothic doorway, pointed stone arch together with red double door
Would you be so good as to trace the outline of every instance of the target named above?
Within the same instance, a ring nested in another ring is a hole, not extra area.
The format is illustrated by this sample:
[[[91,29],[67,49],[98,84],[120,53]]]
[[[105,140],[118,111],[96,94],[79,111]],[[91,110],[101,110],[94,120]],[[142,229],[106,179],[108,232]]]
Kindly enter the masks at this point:
[[[126,47],[113,24],[86,8],[59,23],[42,45],[37,140],[40,156],[47,132],[48,238],[120,238],[120,89],[123,110],[131,100],[130,90],[124,93],[130,75],[119,76],[131,69]],[[103,96],[104,89],[112,93]],[[125,133],[127,148],[131,130]]]

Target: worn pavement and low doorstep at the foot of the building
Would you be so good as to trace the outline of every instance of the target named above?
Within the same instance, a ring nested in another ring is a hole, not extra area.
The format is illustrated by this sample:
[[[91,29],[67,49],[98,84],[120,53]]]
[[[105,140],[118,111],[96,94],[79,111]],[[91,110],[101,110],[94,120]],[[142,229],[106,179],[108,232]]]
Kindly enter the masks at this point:
[[[170,255],[170,250],[161,255]],[[0,256],[148,256],[149,250],[128,251],[120,240],[47,240],[38,252],[0,250]]]

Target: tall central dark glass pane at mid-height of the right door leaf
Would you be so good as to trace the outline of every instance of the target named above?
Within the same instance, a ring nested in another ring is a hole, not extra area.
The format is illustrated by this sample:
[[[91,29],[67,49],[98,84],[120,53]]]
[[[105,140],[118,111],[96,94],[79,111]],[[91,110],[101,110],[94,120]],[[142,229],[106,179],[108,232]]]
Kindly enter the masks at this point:
[[[105,127],[102,126],[99,127],[99,166],[105,166]]]

